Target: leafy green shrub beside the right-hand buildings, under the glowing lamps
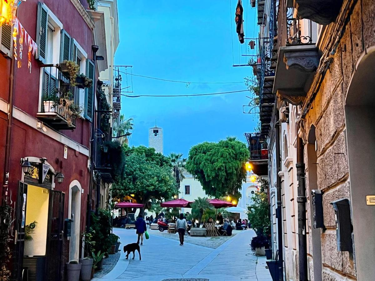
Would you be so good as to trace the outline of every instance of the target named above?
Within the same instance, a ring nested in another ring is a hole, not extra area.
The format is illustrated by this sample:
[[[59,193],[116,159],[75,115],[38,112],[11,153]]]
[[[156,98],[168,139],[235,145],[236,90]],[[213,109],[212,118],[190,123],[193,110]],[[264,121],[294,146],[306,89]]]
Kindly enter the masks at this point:
[[[255,192],[251,200],[252,204],[248,206],[249,222],[257,235],[261,235],[264,230],[268,232],[270,227],[270,207],[267,201],[267,194]]]

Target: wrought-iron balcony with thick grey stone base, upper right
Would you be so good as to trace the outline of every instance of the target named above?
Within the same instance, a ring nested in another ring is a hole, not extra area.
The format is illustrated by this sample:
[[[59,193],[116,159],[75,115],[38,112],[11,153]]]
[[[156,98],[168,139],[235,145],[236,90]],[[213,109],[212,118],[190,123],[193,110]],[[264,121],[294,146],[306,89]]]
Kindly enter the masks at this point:
[[[315,46],[317,24],[298,19],[297,10],[283,7],[285,4],[280,2],[279,7],[280,41],[272,93],[276,93],[279,102],[301,105],[320,60]]]

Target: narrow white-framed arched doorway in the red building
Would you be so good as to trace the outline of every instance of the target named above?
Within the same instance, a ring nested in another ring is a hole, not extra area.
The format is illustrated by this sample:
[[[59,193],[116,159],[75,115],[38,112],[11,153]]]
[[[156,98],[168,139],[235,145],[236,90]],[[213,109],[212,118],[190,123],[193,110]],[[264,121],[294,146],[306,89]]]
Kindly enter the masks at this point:
[[[78,260],[80,256],[80,225],[81,225],[81,194],[79,181],[74,180],[69,185],[69,218],[71,222],[71,237],[69,242],[69,260]]]

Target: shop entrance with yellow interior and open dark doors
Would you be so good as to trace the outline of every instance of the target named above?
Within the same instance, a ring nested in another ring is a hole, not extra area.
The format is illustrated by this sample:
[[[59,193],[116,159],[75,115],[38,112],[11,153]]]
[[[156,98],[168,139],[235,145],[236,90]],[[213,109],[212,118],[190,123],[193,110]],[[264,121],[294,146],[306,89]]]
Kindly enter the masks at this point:
[[[17,202],[16,280],[60,280],[65,194],[25,181]]]

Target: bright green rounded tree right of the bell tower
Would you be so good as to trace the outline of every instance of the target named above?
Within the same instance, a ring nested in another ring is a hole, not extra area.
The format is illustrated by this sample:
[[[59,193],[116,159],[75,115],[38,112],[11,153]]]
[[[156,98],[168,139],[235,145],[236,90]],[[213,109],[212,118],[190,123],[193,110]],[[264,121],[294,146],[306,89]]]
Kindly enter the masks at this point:
[[[238,199],[246,179],[248,158],[246,144],[228,137],[218,143],[203,142],[193,146],[186,169],[198,179],[207,195],[218,198],[230,194]]]

